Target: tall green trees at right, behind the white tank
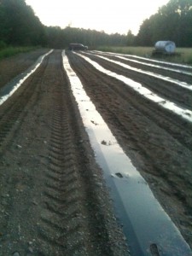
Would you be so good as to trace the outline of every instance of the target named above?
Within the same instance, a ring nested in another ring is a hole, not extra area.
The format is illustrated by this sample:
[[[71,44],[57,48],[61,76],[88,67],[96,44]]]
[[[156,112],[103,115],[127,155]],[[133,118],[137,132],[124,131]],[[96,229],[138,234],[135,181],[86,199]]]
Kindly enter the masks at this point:
[[[192,0],[170,0],[158,13],[143,20],[137,45],[151,46],[156,41],[174,41],[177,47],[192,46]]]

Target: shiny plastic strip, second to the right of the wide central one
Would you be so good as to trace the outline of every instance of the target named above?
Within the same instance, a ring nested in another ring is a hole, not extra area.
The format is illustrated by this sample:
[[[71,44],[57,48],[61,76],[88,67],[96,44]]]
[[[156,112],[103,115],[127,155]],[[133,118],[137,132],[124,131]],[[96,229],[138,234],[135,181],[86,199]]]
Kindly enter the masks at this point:
[[[88,55],[89,55],[89,54],[88,54]],[[101,55],[97,55],[97,57],[99,57],[99,58],[101,58],[101,59],[103,59],[103,60],[106,60],[106,61],[110,61],[110,62],[112,62],[112,63],[114,63],[114,64],[117,64],[117,65],[119,65],[119,66],[121,66],[121,67],[125,67],[125,68],[130,69],[130,70],[132,70],[132,71],[135,71],[135,72],[137,72],[137,73],[147,74],[147,75],[149,75],[149,76],[151,76],[151,77],[154,77],[154,78],[156,78],[156,79],[161,79],[161,80],[164,80],[164,81],[166,81],[166,82],[171,82],[172,84],[177,84],[178,86],[182,86],[182,87],[185,88],[185,89],[192,90],[192,84],[187,84],[187,83],[182,82],[182,81],[179,81],[179,80],[177,80],[177,79],[172,79],[172,78],[170,78],[170,77],[165,77],[165,76],[160,75],[160,74],[157,74],[157,73],[152,73],[152,72],[149,72],[149,71],[144,71],[144,70],[142,70],[142,69],[140,69],[140,68],[131,67],[131,66],[125,64],[125,63],[122,63],[122,62],[119,62],[119,61],[113,61],[113,60],[110,60],[110,59],[108,59],[108,58],[106,58],[106,57],[103,57],[103,56],[101,56]],[[182,72],[181,72],[181,73],[182,73]]]

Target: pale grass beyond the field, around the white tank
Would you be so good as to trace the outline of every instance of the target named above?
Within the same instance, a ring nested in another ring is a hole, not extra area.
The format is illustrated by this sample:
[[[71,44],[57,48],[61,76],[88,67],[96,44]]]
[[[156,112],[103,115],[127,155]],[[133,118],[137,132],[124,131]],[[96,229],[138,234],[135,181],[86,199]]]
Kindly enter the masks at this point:
[[[110,47],[110,46],[100,46],[97,50],[115,52],[125,55],[137,55],[142,57],[152,57],[152,52],[154,47]],[[163,56],[160,57],[160,60],[172,61],[177,63],[189,64],[192,65],[192,48],[177,48],[177,55],[172,56]],[[157,58],[157,57],[156,57]]]

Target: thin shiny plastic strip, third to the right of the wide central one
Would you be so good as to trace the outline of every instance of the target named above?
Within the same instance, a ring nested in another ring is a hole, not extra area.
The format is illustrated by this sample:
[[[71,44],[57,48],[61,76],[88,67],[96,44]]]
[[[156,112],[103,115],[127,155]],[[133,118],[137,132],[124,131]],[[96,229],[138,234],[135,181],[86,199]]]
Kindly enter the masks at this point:
[[[111,55],[111,54],[102,52],[102,55]],[[191,72],[186,72],[186,71],[183,71],[182,69],[173,69],[173,68],[170,68],[170,67],[162,67],[162,66],[159,66],[159,65],[149,64],[149,63],[146,63],[146,62],[125,58],[124,56],[120,56],[120,55],[116,55],[116,54],[113,54],[113,56],[117,57],[117,58],[119,58],[121,60],[135,62],[135,63],[141,64],[143,66],[156,67],[156,68],[164,69],[166,71],[172,71],[172,72],[175,72],[175,73],[183,73],[183,74],[192,76]]]

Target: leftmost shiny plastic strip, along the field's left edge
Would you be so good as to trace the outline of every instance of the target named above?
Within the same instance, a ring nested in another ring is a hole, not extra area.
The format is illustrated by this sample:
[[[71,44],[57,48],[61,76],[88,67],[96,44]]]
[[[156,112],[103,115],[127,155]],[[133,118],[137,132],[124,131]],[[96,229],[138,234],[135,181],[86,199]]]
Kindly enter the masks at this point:
[[[29,67],[24,73],[21,73],[19,76],[17,76],[15,79],[11,80],[8,84],[6,84],[1,90],[0,90],[0,105],[3,104],[3,102],[7,101],[9,96],[12,96],[15,91],[20,87],[20,85],[32,74],[34,73],[37,68],[41,65],[42,61],[44,60],[44,57],[46,55],[49,55],[53,50],[49,50],[48,53],[40,56],[38,58],[38,61],[36,61],[32,67]]]

